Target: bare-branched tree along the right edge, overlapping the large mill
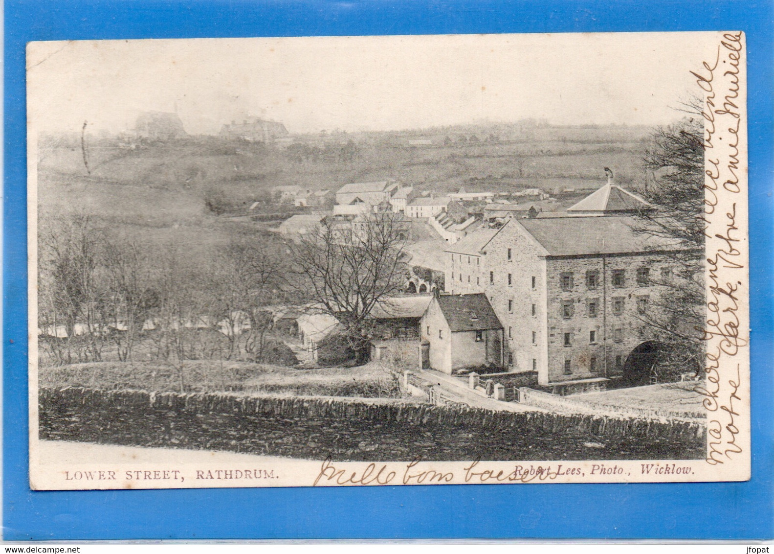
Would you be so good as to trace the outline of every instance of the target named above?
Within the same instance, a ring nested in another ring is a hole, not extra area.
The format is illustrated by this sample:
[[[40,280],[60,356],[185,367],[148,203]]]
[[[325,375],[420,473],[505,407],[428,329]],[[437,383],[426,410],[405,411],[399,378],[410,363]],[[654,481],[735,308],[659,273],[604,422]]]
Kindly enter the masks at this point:
[[[639,314],[660,342],[659,380],[698,372],[704,357],[704,122],[697,101],[684,106],[693,117],[652,131],[643,156],[650,178],[640,192],[656,209],[640,212],[635,225],[673,268],[649,275],[664,292]]]

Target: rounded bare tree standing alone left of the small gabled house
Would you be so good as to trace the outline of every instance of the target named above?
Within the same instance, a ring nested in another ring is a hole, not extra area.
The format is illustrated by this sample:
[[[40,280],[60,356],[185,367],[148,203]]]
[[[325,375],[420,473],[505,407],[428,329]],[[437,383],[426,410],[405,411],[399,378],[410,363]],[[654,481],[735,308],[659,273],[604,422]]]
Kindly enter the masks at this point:
[[[367,352],[368,315],[405,284],[406,236],[402,215],[378,212],[327,220],[290,246],[294,286],[311,301],[308,311],[340,322],[358,362]]]

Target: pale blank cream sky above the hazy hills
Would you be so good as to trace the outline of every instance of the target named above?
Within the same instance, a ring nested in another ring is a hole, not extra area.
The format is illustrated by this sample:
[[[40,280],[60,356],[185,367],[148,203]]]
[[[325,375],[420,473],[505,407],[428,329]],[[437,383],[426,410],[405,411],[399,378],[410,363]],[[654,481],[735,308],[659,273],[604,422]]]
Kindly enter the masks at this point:
[[[715,33],[567,33],[30,43],[38,132],[134,127],[177,112],[191,134],[257,116],[289,132],[547,119],[656,125],[680,117]]]

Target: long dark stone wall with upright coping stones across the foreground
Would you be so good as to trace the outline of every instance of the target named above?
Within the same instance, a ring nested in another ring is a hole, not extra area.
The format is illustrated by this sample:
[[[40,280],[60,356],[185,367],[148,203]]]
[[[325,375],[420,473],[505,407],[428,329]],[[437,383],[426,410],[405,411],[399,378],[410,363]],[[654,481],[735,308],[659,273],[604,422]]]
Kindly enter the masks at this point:
[[[344,399],[42,389],[39,437],[303,459],[703,459],[704,426]]]

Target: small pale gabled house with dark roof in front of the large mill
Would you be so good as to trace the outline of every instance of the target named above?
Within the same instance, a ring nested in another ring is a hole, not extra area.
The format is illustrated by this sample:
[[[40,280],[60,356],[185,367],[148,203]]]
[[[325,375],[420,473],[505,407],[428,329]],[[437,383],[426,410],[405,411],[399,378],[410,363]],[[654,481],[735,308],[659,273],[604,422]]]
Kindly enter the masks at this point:
[[[454,373],[474,366],[502,366],[503,327],[485,294],[441,294],[422,317],[427,363]]]

